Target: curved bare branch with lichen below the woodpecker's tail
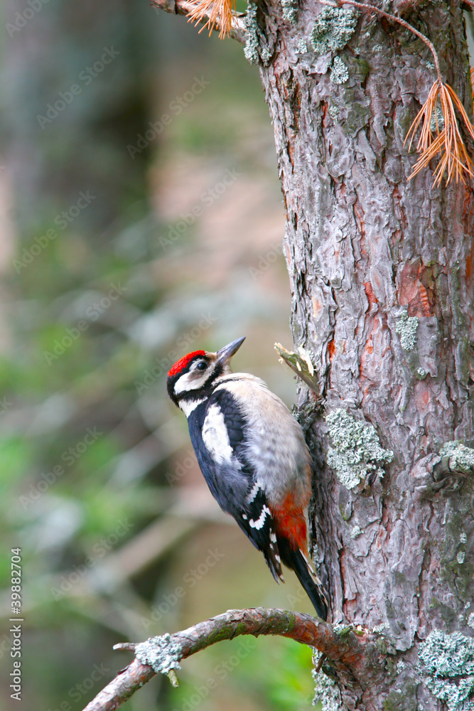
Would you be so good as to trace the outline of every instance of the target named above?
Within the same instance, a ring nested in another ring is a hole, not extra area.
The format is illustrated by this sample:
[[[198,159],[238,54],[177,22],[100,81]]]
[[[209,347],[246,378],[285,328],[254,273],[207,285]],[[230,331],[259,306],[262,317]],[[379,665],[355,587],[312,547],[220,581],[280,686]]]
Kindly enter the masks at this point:
[[[375,644],[377,636],[367,630],[354,630],[348,625],[335,631],[318,617],[288,610],[227,610],[172,635],[153,637],[141,644],[115,645],[114,649],[134,651],[136,658],[83,711],[114,711],[158,671],[174,673],[181,659],[242,634],[275,634],[316,647],[338,668],[350,671],[352,679],[363,675],[369,660],[372,668],[379,666],[383,673],[382,653]]]

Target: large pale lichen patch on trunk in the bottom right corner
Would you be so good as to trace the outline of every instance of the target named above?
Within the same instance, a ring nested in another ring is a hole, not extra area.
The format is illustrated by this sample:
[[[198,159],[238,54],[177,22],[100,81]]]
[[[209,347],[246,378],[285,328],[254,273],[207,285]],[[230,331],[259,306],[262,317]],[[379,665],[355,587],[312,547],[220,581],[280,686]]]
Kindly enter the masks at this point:
[[[474,639],[434,630],[419,647],[426,686],[448,711],[474,711]]]

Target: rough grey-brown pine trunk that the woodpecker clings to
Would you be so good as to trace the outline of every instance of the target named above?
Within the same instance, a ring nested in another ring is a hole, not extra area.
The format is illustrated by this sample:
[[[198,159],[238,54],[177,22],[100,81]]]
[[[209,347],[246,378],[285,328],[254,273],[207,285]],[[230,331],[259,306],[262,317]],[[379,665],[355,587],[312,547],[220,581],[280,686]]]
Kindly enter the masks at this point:
[[[232,33],[247,35],[259,64],[288,217],[293,338],[329,415],[328,427],[301,383],[316,561],[333,622],[376,628],[383,657],[383,673],[359,661],[357,680],[328,660],[323,708],[468,711],[474,451],[446,443],[474,445],[473,191],[434,188],[431,169],[408,179],[404,139],[436,80],[424,43],[367,13],[323,23],[324,10],[251,2]],[[389,11],[431,39],[472,115],[460,5],[394,0]]]

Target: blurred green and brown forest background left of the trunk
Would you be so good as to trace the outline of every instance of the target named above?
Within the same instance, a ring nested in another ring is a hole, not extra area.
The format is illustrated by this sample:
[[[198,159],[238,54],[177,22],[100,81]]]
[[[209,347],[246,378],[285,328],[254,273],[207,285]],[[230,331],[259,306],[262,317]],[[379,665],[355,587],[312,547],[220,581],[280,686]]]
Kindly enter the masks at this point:
[[[247,336],[234,367],[295,383],[284,207],[257,68],[146,0],[1,9],[0,659],[22,559],[22,701],[79,711],[141,641],[230,608],[311,611],[213,501],[166,371]],[[237,638],[124,709],[303,710],[311,654]]]

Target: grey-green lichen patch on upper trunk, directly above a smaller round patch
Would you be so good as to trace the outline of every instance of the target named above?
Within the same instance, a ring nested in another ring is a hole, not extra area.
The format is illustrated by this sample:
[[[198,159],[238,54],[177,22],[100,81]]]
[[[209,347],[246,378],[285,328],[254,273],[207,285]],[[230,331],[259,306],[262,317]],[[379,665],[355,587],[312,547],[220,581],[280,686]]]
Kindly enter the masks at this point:
[[[354,9],[323,8],[311,32],[311,46],[316,54],[343,49],[355,31],[359,15]]]

